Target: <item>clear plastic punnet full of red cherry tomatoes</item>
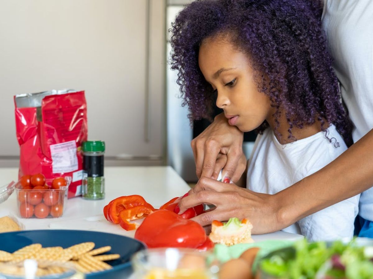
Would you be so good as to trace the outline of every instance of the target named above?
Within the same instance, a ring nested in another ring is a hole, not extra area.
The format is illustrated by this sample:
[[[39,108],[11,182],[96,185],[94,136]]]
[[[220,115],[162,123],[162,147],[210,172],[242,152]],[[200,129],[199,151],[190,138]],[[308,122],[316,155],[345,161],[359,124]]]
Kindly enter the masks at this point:
[[[71,177],[46,179],[43,174],[24,175],[14,190],[21,218],[57,218],[66,208]]]

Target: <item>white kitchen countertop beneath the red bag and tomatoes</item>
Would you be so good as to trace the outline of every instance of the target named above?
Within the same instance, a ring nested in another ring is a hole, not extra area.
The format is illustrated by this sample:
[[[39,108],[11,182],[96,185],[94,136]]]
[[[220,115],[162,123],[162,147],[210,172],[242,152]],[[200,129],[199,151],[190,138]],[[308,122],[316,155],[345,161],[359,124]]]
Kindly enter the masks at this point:
[[[69,229],[94,230],[114,234],[134,236],[134,231],[125,231],[119,225],[108,222],[103,215],[103,208],[119,196],[141,195],[144,199],[159,208],[176,196],[182,196],[189,186],[171,167],[106,167],[105,199],[88,201],[81,197],[69,199],[62,217],[59,218],[20,218],[16,195],[0,204],[0,217],[16,217],[25,230]],[[0,168],[0,186],[18,179],[17,168]],[[141,222],[140,220],[138,222]],[[255,241],[266,239],[297,239],[300,235],[287,232],[254,235]]]

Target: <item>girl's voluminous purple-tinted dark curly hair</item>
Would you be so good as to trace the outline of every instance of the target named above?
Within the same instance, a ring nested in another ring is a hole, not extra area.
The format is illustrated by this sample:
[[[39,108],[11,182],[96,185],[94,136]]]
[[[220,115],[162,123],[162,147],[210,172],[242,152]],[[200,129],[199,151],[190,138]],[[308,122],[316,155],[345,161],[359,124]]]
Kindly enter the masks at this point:
[[[279,126],[280,108],[294,126],[333,123],[347,145],[351,125],[342,105],[321,28],[322,3],[315,0],[200,0],[186,6],[172,23],[171,68],[178,71],[183,105],[189,118],[209,118],[213,89],[198,66],[205,38],[229,35],[231,43],[250,57],[258,89],[270,97]],[[262,132],[266,121],[258,127]],[[277,132],[277,131],[275,131]]]

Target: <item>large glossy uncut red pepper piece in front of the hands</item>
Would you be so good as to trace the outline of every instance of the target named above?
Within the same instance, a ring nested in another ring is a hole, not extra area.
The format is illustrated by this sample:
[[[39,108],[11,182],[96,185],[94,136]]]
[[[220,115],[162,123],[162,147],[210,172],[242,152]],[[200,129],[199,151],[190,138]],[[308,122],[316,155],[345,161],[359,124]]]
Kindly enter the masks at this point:
[[[166,209],[149,214],[137,228],[135,238],[144,242],[149,248],[198,248],[207,240],[200,224]]]

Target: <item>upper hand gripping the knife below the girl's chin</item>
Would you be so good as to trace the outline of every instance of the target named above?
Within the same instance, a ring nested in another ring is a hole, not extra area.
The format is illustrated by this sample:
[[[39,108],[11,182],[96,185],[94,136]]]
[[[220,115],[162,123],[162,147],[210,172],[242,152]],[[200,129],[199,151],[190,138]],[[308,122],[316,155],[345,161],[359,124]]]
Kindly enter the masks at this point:
[[[223,178],[238,181],[246,168],[246,160],[242,160],[243,140],[244,133],[229,125],[224,113],[217,115],[214,122],[191,142],[198,178],[217,179],[223,167]],[[225,165],[219,160],[219,154],[226,155]]]

